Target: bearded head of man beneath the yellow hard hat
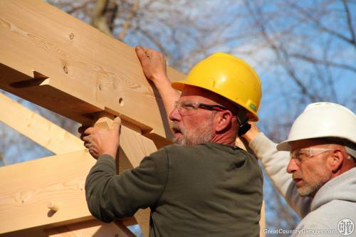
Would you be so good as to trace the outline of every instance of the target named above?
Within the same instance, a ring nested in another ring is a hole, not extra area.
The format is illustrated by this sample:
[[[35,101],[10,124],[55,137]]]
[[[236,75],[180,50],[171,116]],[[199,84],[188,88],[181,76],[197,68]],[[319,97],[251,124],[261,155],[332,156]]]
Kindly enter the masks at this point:
[[[234,146],[239,127],[236,113],[237,107],[233,102],[209,90],[186,85],[176,107],[169,114],[173,140],[188,146],[204,142]]]

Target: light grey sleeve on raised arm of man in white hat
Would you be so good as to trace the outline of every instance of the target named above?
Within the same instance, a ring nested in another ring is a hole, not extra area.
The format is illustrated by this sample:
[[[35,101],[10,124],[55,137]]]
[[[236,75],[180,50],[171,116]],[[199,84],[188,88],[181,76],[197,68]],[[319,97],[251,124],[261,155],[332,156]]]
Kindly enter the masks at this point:
[[[298,194],[292,174],[288,174],[289,152],[278,152],[277,144],[272,142],[262,132],[250,142],[249,147],[261,160],[268,177],[272,180],[278,191],[283,195],[288,204],[300,217],[310,211],[311,200]]]

